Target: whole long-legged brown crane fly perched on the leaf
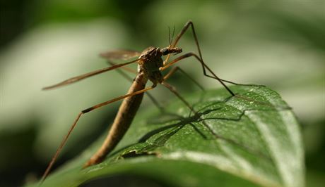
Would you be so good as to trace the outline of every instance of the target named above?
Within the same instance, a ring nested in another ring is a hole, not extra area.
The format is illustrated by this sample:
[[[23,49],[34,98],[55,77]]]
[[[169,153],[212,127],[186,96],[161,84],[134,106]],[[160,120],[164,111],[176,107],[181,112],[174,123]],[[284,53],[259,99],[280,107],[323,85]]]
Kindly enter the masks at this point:
[[[182,49],[177,47],[177,42],[179,39],[182,37],[182,35],[189,29],[191,28],[191,31],[194,36],[194,40],[196,43],[196,47],[199,51],[199,56],[196,55],[196,53],[185,53],[182,56],[179,56],[175,58],[174,60],[169,60],[171,54],[179,54],[182,53]],[[110,51],[107,53],[102,53],[100,56],[107,60],[114,60],[114,59],[130,59],[130,58],[136,58],[136,60],[131,60],[127,63],[122,63],[118,65],[112,65],[110,67],[105,67],[101,70],[96,70],[93,72],[86,73],[84,75],[79,75],[77,77],[72,77],[71,79],[66,79],[64,82],[60,82],[59,84],[54,84],[52,86],[47,86],[43,88],[44,90],[48,89],[54,89],[59,86],[64,86],[66,84],[71,84],[74,82],[78,82],[81,79],[85,79],[88,77],[91,77],[93,75],[98,75],[102,72],[107,72],[110,70],[117,69],[119,67],[126,68],[124,67],[125,65],[129,65],[132,63],[138,63],[138,70],[137,70],[137,75],[134,78],[134,81],[132,82],[129,91],[126,93],[124,96],[119,96],[117,98],[113,98],[110,101],[105,101],[103,103],[99,103],[98,105],[93,105],[90,108],[87,108],[85,110],[82,110],[78,116],[76,117],[76,120],[73,122],[71,128],[69,129],[68,134],[64,137],[62,140],[59,148],[57,149],[57,152],[54,154],[54,157],[52,158],[51,162],[49,162],[49,165],[45,171],[45,173],[42,176],[42,180],[44,181],[47,175],[49,174],[50,169],[54,165],[55,160],[57,160],[57,157],[59,156],[59,153],[61,152],[61,149],[63,148],[64,144],[66,143],[67,139],[69,138],[71,131],[73,131],[73,128],[76,127],[76,124],[80,117],[84,115],[87,112],[90,112],[92,110],[95,110],[97,108],[100,108],[105,105],[109,105],[110,103],[114,103],[115,101],[119,101],[124,99],[122,104],[119,107],[119,111],[117,112],[117,115],[114,119],[114,122],[112,124],[112,127],[105,138],[104,143],[102,143],[102,146],[100,149],[88,160],[88,162],[85,163],[84,167],[89,167],[91,165],[98,164],[102,162],[102,160],[105,159],[105,156],[110,153],[115,146],[117,146],[117,143],[122,139],[124,134],[126,133],[127,129],[129,129],[129,126],[131,125],[132,120],[134,119],[134,116],[136,115],[136,112],[141,104],[142,98],[143,98],[143,93],[146,91],[149,91],[151,89],[154,89],[155,86],[158,84],[162,84],[162,86],[165,86],[167,89],[172,91],[187,107],[194,113],[196,111],[185,101],[182,96],[179,95],[179,93],[175,90],[173,86],[168,84],[166,81],[169,79],[177,70],[181,70],[179,67],[172,67],[172,69],[167,72],[165,76],[162,75],[162,72],[166,70],[168,67],[174,65],[175,63],[179,62],[180,60],[183,60],[184,58],[189,58],[189,57],[194,57],[196,60],[201,63],[201,67],[203,70],[203,75],[206,77],[210,77],[213,79],[218,80],[225,89],[228,90],[230,95],[235,96],[235,93],[233,93],[228,86],[225,85],[224,82],[232,83],[235,84],[234,82],[229,82],[224,79],[220,79],[215,75],[215,73],[206,65],[206,63],[203,62],[201,50],[199,47],[199,41],[196,37],[196,32],[194,30],[194,24],[189,20],[182,30],[177,34],[177,37],[175,38],[174,41],[170,39],[170,45],[165,47],[165,48],[156,48],[153,46],[148,47],[147,49],[143,50],[141,53],[136,52],[136,51]],[[165,60],[162,60],[162,56],[166,56]],[[181,70],[182,71],[182,70]],[[208,75],[207,72],[210,72],[211,75]],[[152,82],[152,86],[146,87],[146,83],[150,81]]]

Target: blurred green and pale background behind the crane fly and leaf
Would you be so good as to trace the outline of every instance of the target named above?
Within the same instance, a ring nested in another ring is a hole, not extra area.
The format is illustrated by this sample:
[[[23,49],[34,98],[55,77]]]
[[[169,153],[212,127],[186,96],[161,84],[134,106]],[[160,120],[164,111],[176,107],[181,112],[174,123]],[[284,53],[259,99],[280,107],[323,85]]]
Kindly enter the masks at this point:
[[[52,91],[43,86],[106,67],[98,53],[168,46],[191,19],[203,59],[223,79],[265,84],[293,107],[305,141],[307,186],[325,183],[325,1],[1,0],[0,186],[37,180],[81,110],[126,93],[117,72]],[[195,51],[188,32],[179,47]],[[207,89],[220,85],[193,59],[179,63]],[[134,75],[131,75],[134,76]],[[182,75],[180,93],[199,90]],[[173,98],[152,91],[160,102]],[[150,105],[145,99],[141,110]],[[81,153],[119,103],[85,115],[56,167]]]

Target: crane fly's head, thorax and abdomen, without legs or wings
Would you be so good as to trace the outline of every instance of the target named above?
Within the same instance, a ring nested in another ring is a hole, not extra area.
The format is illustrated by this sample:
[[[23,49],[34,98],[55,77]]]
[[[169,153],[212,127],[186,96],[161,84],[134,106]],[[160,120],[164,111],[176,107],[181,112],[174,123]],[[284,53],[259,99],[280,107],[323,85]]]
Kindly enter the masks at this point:
[[[143,50],[141,55],[138,57],[138,75],[136,75],[136,78],[134,79],[134,82],[132,83],[127,94],[145,89],[148,80],[153,82],[152,87],[155,87],[156,84],[161,84],[163,82],[164,77],[159,70],[160,67],[163,67],[163,52],[168,54],[182,51],[182,49],[178,48],[169,51],[166,50],[167,49],[160,50],[159,48],[155,48],[153,46]],[[95,153],[83,167],[96,165],[102,162],[106,155],[110,153],[115,146],[117,146],[117,143],[119,143],[119,141],[123,138],[127,129],[129,129],[132,121],[134,120],[134,116],[140,107],[142,98],[143,93],[124,98],[114,119],[112,127],[108,132],[107,138],[105,139],[104,143],[102,143],[102,146],[98,152]]]

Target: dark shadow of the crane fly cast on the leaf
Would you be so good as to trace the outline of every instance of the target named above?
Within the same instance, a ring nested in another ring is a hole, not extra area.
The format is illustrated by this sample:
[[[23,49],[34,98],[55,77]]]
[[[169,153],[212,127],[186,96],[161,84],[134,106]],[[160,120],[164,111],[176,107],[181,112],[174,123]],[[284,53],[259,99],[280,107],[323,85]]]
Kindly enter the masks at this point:
[[[144,134],[141,138],[139,138],[137,143],[133,143],[129,146],[125,146],[124,148],[120,148],[119,150],[114,151],[114,153],[112,153],[112,155],[117,155],[117,154],[121,153],[123,150],[125,150],[127,148],[131,148],[133,146],[136,146],[139,143],[147,143],[147,145],[144,146],[143,148],[126,151],[126,153],[122,153],[122,155],[119,157],[132,158],[132,157],[140,157],[140,156],[148,156],[148,155],[157,156],[157,155],[159,155],[159,153],[155,152],[155,149],[165,146],[165,143],[172,136],[177,134],[177,132],[179,130],[183,129],[186,125],[190,125],[194,129],[194,131],[196,131],[196,133],[198,133],[203,139],[207,140],[208,136],[197,127],[198,124],[201,124],[204,129],[207,129],[208,132],[210,134],[212,134],[213,138],[227,141],[228,143],[231,143],[233,146],[236,146],[237,148],[240,148],[241,150],[244,150],[247,153],[250,153],[257,157],[261,157],[264,160],[273,162],[272,158],[268,154],[262,153],[260,150],[255,150],[255,149],[251,148],[250,146],[244,145],[244,144],[236,141],[235,139],[227,138],[227,137],[221,136],[220,134],[217,134],[215,131],[213,131],[213,129],[211,129],[211,127],[208,126],[208,124],[206,124],[206,121],[207,120],[227,120],[227,121],[239,122],[240,120],[242,120],[242,117],[245,116],[245,113],[247,111],[280,111],[280,110],[290,110],[291,108],[290,107],[282,107],[282,106],[280,106],[280,107],[272,106],[272,108],[265,108],[265,109],[247,108],[247,109],[244,109],[241,112],[239,112],[235,117],[234,116],[232,116],[232,117],[203,117],[204,115],[208,115],[211,112],[223,110],[225,105],[221,105],[218,108],[212,108],[212,109],[211,109],[211,106],[220,105],[222,103],[227,103],[233,97],[235,97],[235,96],[230,96],[228,98],[225,98],[223,101],[215,101],[213,103],[205,105],[203,108],[201,108],[200,110],[197,111],[196,115],[193,115],[193,116],[182,117],[181,115],[177,115],[176,113],[165,113],[165,115],[172,115],[173,117],[177,117],[174,119],[174,120],[177,120],[177,122],[175,122],[173,124],[169,124],[164,127],[158,127],[157,129],[153,129],[152,131],[149,131],[148,133]],[[195,103],[194,105],[196,105],[196,104],[199,104],[199,103]],[[271,106],[271,105],[269,105],[269,106]],[[172,120],[166,120],[165,122],[160,122],[160,124],[164,124],[164,123],[171,122],[171,121]],[[166,131],[165,134],[164,134],[164,131]],[[148,143],[150,138],[153,138],[157,134],[161,134],[161,135],[158,138],[155,138],[154,141],[150,141],[150,143]],[[211,136],[209,136],[209,137],[211,137]]]

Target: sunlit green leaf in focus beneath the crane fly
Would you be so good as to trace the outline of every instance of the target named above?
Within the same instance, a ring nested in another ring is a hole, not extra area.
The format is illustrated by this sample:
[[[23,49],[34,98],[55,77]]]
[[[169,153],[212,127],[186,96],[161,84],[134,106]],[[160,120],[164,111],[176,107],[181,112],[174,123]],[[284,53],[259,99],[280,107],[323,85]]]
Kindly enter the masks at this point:
[[[53,172],[42,186],[78,186],[94,179],[135,175],[167,186],[304,186],[305,167],[295,115],[265,86],[231,86],[192,93],[138,113],[107,159],[86,169],[105,134]]]

